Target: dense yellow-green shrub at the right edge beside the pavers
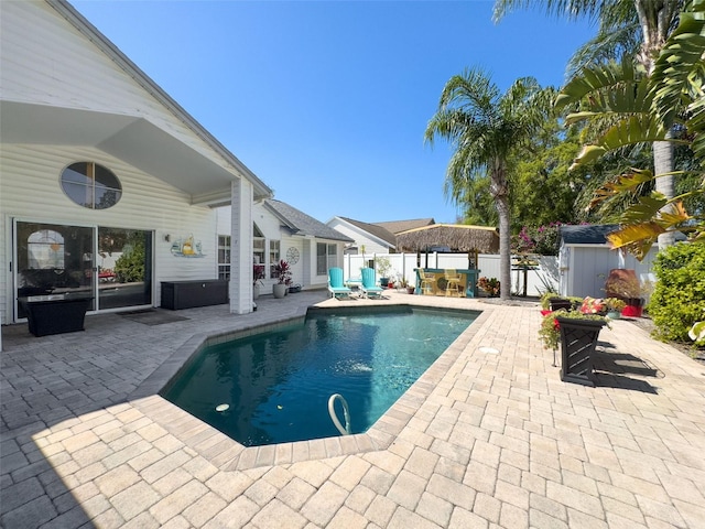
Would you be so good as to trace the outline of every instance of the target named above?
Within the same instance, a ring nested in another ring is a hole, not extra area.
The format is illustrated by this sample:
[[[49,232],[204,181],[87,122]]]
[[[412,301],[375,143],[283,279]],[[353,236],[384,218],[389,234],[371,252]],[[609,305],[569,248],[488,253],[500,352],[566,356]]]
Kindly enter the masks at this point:
[[[658,281],[648,310],[654,336],[688,342],[688,331],[705,311],[705,245],[679,244],[655,258]]]

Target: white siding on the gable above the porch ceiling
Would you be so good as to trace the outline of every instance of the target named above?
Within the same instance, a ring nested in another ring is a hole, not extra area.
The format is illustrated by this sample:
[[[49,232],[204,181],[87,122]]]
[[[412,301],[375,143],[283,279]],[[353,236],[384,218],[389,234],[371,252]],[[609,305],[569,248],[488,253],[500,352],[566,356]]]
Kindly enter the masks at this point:
[[[142,117],[232,170],[162,101],[51,6],[36,1],[0,4],[2,99]]]

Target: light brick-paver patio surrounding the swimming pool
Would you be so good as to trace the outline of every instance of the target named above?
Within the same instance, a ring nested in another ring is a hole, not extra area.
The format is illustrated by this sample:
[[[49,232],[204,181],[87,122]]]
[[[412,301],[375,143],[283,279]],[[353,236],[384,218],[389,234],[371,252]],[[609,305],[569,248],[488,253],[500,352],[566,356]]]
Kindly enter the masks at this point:
[[[355,439],[243,450],[154,395],[198,336],[341,303],[324,300],[3,327],[0,526],[705,528],[705,367],[626,321],[586,388],[560,380],[535,305],[390,293],[485,312]]]

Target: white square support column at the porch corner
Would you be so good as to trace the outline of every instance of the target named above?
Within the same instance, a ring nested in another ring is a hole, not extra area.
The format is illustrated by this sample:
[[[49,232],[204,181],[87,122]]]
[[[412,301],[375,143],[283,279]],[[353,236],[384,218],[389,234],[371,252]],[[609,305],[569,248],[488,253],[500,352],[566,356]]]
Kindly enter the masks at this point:
[[[232,182],[230,193],[230,312],[252,312],[252,184]]]

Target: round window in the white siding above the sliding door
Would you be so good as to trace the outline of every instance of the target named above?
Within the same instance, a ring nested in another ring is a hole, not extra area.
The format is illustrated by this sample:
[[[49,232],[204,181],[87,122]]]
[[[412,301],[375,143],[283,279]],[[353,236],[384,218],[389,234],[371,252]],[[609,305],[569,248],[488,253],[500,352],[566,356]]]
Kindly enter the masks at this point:
[[[107,168],[93,162],[76,162],[62,172],[62,190],[79,206],[107,209],[122,196],[122,185]]]

